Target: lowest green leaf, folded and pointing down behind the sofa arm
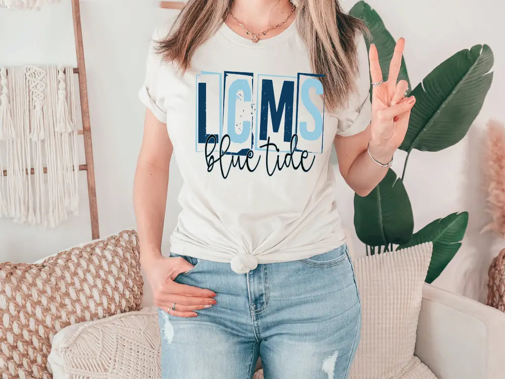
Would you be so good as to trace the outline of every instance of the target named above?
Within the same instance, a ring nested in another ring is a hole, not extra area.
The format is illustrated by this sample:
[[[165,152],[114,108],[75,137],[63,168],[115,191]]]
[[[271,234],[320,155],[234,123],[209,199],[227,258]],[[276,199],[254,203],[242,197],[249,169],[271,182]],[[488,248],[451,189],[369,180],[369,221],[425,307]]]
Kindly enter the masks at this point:
[[[403,249],[424,242],[433,242],[433,254],[426,281],[431,283],[443,271],[461,246],[468,225],[468,212],[452,213],[439,218],[414,233],[412,239],[396,248]]]

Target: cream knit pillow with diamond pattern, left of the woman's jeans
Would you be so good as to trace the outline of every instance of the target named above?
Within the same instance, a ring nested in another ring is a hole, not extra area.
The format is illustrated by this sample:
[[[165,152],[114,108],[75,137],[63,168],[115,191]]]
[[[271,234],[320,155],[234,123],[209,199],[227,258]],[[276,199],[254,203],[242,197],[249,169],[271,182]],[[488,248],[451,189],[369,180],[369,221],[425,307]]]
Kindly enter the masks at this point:
[[[81,322],[55,336],[54,379],[159,379],[161,342],[156,307]]]

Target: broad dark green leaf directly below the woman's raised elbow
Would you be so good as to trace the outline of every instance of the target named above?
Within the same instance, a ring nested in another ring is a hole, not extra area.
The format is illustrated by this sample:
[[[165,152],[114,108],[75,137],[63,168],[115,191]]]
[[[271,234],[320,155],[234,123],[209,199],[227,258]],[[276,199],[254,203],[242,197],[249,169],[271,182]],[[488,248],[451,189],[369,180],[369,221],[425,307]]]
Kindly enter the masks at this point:
[[[366,197],[354,197],[354,225],[358,238],[370,246],[405,244],[414,230],[409,196],[400,178],[389,169]]]

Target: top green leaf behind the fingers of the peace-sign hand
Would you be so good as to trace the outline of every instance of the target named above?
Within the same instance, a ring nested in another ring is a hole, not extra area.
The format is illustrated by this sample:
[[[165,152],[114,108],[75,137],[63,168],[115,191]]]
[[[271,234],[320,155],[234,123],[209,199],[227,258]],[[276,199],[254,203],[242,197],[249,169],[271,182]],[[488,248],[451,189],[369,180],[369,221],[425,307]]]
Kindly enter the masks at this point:
[[[391,34],[388,32],[382,19],[367,3],[360,1],[355,4],[354,7],[349,11],[349,15],[359,18],[364,21],[370,33],[372,34],[372,40],[365,38],[367,43],[367,50],[370,50],[370,43],[375,43],[377,51],[379,52],[379,62],[382,70],[382,77],[387,80],[389,73],[389,63],[393,57],[394,46],[396,41],[393,39]],[[401,67],[398,74],[398,80],[405,79],[409,82],[409,91],[411,87],[409,75],[407,74],[407,66],[405,65],[405,59],[401,58]],[[372,81],[370,80],[370,83]],[[370,84],[370,99],[372,99],[372,85]]]

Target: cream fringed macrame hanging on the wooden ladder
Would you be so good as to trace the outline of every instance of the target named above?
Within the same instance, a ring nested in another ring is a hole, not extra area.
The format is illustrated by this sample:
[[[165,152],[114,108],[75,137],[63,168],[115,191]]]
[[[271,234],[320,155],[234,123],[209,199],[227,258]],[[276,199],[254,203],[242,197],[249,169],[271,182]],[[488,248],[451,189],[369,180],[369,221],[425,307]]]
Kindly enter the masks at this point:
[[[0,217],[55,227],[77,214],[72,73],[63,66],[0,67]]]

